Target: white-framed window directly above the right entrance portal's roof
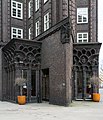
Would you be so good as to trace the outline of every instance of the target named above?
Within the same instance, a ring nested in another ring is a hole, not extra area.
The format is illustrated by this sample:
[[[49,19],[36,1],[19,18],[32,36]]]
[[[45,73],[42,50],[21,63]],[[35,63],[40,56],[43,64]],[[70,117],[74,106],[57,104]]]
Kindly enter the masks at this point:
[[[77,33],[77,42],[78,43],[88,42],[88,33],[87,32]]]

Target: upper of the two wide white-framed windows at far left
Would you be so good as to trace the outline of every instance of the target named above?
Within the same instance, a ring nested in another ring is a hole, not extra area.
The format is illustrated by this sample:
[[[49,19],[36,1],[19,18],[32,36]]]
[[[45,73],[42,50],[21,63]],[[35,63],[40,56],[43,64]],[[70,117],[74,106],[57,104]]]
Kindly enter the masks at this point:
[[[11,16],[23,19],[23,3],[14,0],[11,1]]]

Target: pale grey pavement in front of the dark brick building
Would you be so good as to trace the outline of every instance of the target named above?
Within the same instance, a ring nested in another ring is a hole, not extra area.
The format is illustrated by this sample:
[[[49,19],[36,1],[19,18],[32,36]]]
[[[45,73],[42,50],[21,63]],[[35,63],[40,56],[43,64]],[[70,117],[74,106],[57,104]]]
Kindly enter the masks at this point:
[[[0,120],[103,120],[103,90],[100,93],[100,102],[73,101],[69,107],[0,102]]]

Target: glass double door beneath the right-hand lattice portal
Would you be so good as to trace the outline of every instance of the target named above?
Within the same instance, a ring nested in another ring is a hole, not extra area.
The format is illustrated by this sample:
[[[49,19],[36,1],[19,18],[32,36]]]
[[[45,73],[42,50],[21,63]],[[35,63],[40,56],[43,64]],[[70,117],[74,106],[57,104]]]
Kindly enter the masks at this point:
[[[90,73],[78,71],[75,74],[75,99],[89,100],[91,99],[92,87],[90,83]]]

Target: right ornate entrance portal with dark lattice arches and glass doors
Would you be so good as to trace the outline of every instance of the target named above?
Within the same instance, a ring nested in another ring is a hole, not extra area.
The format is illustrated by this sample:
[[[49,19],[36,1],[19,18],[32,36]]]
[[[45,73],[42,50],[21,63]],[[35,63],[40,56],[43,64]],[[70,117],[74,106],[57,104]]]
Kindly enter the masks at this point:
[[[93,46],[94,45],[94,46]],[[93,86],[90,78],[98,76],[99,43],[74,44],[73,50],[73,98],[92,99]]]

